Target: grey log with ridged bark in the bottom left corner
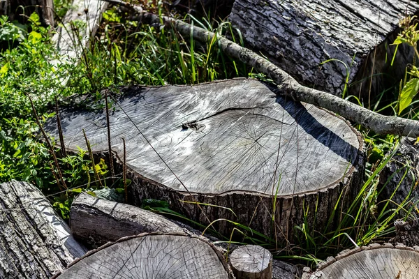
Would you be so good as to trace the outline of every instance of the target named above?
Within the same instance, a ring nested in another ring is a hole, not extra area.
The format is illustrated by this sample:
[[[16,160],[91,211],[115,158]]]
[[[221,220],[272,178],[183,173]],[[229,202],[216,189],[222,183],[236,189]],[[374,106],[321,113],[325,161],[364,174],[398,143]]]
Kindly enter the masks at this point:
[[[0,184],[0,278],[50,278],[85,252],[40,190]]]

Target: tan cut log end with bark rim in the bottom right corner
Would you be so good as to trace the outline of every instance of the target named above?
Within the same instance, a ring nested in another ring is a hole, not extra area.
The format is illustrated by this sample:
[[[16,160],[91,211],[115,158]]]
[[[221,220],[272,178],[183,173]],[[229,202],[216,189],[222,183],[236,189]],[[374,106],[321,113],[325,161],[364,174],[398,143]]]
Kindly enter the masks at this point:
[[[337,257],[328,257],[318,264],[314,273],[304,273],[304,279],[355,278],[418,278],[419,250],[402,244],[371,244],[345,250]]]

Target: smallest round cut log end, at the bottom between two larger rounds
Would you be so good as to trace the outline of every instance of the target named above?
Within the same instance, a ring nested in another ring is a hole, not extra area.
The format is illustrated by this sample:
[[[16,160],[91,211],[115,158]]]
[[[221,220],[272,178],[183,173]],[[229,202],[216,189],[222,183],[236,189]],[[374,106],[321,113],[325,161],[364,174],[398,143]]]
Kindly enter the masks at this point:
[[[272,254],[257,245],[241,246],[230,255],[237,279],[272,279]]]

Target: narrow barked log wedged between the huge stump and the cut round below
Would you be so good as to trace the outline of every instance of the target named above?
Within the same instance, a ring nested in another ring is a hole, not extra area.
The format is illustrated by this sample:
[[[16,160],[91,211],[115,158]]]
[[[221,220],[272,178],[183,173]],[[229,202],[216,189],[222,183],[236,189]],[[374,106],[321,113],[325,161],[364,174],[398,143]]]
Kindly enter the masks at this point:
[[[98,199],[85,193],[76,197],[71,205],[71,231],[73,235],[90,247],[97,248],[114,242],[124,236],[159,232],[166,234],[184,233],[210,242],[223,255],[237,248],[237,245],[220,241],[214,236],[175,220],[168,220],[136,206]],[[240,259],[237,259],[237,263]],[[286,262],[274,259],[271,263],[272,279],[294,279],[298,269]]]

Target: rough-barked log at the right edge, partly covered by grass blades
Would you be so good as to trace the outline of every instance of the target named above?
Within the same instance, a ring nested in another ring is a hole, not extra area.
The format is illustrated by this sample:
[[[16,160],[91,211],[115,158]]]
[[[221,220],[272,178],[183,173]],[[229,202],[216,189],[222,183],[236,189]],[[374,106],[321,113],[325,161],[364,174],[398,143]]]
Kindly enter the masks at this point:
[[[392,200],[387,208],[395,209],[396,206],[406,204],[404,207],[410,209],[412,205],[419,203],[419,144],[416,139],[405,137],[402,139],[399,149],[392,160],[385,165],[380,174],[380,186],[378,187],[378,199],[381,205]],[[400,211],[400,218],[405,216],[405,211]],[[416,210],[411,210],[413,218],[419,218]]]

